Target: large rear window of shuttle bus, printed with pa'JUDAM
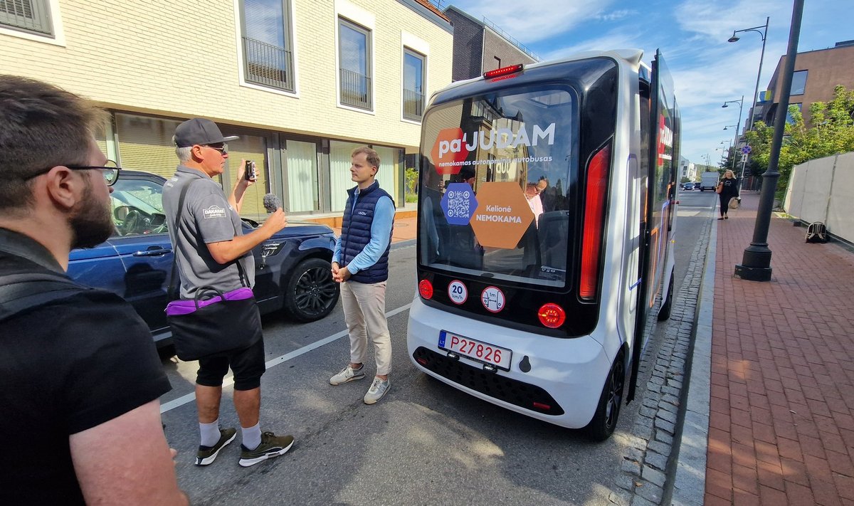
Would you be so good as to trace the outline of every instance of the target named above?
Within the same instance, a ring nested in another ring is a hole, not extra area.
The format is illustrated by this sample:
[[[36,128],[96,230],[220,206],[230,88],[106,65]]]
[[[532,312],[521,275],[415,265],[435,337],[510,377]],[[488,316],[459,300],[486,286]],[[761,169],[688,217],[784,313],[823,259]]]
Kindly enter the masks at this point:
[[[424,268],[565,287],[577,99],[520,86],[435,105],[421,139],[418,262]]]

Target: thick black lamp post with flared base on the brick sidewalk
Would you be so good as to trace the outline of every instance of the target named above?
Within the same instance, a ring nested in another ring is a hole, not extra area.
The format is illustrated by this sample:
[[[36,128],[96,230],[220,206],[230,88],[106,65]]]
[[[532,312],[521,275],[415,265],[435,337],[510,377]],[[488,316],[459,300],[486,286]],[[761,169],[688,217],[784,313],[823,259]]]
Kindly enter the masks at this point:
[[[786,51],[786,64],[783,67],[780,93],[781,113],[774,119],[774,137],[771,138],[768,170],[762,174],[762,191],[759,194],[759,209],[756,224],[753,226],[753,240],[745,248],[741,263],[735,266],[735,277],[752,281],[771,280],[771,250],[768,247],[768,229],[771,223],[771,210],[774,207],[774,192],[780,179],[780,149],[783,144],[783,130],[786,127],[786,110],[789,107],[789,93],[792,91],[792,74],[795,58],[798,55],[801,17],[804,15],[804,0],[794,0],[792,25],[789,30],[789,46]]]

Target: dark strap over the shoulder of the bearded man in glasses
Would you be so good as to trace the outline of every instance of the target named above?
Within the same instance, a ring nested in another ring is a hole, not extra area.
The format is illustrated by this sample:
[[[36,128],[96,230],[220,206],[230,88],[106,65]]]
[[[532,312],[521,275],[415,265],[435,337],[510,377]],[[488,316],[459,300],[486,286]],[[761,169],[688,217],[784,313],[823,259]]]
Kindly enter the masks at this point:
[[[51,274],[7,274],[0,276],[0,321],[7,320],[26,309],[71,297],[84,286],[71,279]]]

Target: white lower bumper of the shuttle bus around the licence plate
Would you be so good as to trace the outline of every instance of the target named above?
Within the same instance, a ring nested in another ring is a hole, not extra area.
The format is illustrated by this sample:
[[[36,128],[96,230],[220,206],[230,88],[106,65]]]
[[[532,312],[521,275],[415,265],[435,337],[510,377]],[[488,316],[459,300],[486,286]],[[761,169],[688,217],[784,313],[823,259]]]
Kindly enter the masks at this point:
[[[440,331],[512,350],[510,370],[488,370],[439,348]],[[415,367],[461,391],[561,427],[588,425],[613,357],[594,338],[551,338],[453,315],[415,297],[407,350]]]

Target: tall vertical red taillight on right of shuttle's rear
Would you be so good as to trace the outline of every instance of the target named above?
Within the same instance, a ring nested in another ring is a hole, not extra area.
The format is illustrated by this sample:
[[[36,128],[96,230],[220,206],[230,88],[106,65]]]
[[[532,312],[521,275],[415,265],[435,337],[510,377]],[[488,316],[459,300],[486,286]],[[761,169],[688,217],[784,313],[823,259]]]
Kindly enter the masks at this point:
[[[611,167],[611,144],[606,145],[588,164],[584,196],[584,232],[582,234],[582,276],[578,296],[593,299],[599,284],[602,234],[605,232],[605,197]]]

